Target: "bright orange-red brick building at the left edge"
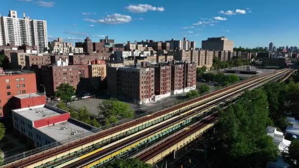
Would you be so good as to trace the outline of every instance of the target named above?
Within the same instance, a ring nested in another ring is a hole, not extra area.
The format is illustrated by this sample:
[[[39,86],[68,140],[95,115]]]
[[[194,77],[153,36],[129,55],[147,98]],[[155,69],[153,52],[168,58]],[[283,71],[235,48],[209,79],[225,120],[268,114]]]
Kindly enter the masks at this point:
[[[36,93],[35,73],[4,73],[0,69],[0,117],[8,117],[12,109],[18,108],[18,103],[12,99],[13,96],[31,93]],[[34,101],[27,105],[33,106]]]

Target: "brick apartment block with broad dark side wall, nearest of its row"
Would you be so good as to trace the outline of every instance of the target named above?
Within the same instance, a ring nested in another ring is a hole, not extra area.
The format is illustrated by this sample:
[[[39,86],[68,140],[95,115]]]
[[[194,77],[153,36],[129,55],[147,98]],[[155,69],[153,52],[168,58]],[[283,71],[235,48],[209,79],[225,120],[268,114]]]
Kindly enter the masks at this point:
[[[108,90],[113,97],[127,102],[143,104],[154,101],[154,68],[107,67]]]

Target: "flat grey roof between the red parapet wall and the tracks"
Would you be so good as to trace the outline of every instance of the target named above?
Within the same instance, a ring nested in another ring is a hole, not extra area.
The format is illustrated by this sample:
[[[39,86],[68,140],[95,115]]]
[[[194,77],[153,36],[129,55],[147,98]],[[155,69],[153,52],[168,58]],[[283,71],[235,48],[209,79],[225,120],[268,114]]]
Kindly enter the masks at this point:
[[[61,129],[62,127],[65,127],[65,129]],[[89,133],[89,130],[86,130],[82,127],[79,127],[69,121],[65,121],[59,124],[42,127],[38,129],[43,134],[46,134],[47,136],[53,138],[54,140],[65,140],[71,137],[74,137],[79,134],[86,134]],[[76,134],[72,134],[72,132],[76,132]]]

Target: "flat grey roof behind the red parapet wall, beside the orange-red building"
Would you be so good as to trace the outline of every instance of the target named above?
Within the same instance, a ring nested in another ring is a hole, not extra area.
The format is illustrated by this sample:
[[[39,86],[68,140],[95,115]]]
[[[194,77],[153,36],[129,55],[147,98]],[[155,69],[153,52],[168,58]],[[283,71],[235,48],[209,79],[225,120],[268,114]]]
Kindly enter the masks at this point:
[[[60,113],[55,112],[49,108],[46,108],[44,107],[44,105],[35,106],[32,107],[31,109],[29,108],[17,109],[17,110],[13,110],[13,112],[22,115],[23,117],[29,119],[30,121],[36,121],[39,119],[60,115]]]

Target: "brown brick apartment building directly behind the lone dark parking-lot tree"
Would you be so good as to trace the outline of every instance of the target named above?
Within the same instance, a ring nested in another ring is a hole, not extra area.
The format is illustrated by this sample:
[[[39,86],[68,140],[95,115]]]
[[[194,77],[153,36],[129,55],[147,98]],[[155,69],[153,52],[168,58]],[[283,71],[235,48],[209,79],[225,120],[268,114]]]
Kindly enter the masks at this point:
[[[60,84],[70,84],[77,89],[76,94],[86,91],[88,83],[88,64],[77,64],[67,66],[41,65],[36,70],[39,84],[46,88],[47,96],[53,96]]]

